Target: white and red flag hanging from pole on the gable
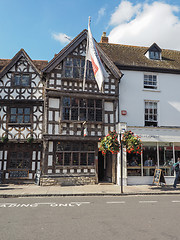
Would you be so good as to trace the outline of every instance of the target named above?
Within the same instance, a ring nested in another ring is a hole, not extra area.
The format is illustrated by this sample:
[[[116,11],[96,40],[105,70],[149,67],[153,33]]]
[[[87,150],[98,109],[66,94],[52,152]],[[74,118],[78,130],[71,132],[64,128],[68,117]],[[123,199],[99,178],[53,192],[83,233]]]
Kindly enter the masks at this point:
[[[91,61],[92,63],[94,76],[98,84],[99,90],[101,91],[103,82],[105,79],[108,78],[109,75],[102,64],[99,53],[97,51],[96,44],[94,42],[91,29],[90,29],[90,20],[88,24],[88,38],[87,38],[87,48],[86,48],[86,61],[87,60]],[[85,68],[85,71],[86,71],[86,68]],[[84,83],[85,83],[85,79],[84,79]]]

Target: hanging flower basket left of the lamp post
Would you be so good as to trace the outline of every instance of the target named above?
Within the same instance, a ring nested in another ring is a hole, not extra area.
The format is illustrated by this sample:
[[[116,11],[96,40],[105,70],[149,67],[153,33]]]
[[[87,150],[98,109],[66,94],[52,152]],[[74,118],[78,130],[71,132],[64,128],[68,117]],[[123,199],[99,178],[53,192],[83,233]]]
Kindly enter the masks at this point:
[[[112,154],[117,154],[119,152],[120,144],[117,140],[117,133],[115,131],[109,132],[100,143],[99,150],[102,152],[103,155],[105,155],[108,151]]]

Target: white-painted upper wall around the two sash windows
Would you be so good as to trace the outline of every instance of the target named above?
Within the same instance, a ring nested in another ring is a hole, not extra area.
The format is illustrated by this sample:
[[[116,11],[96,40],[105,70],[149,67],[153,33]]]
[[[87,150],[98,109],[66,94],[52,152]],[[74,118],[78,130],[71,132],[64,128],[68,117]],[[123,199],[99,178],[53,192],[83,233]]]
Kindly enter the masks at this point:
[[[120,122],[127,126],[144,126],[144,100],[157,100],[158,126],[180,127],[180,75],[122,71],[120,83]],[[157,75],[158,89],[143,88],[144,74]],[[127,115],[122,116],[121,110]]]

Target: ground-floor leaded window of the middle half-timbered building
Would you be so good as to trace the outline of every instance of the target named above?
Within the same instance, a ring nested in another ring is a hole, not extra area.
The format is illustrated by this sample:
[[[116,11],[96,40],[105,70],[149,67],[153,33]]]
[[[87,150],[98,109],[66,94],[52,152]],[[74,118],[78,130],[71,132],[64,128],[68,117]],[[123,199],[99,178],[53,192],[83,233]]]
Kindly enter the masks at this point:
[[[92,166],[95,164],[95,146],[92,142],[58,142],[56,165]]]

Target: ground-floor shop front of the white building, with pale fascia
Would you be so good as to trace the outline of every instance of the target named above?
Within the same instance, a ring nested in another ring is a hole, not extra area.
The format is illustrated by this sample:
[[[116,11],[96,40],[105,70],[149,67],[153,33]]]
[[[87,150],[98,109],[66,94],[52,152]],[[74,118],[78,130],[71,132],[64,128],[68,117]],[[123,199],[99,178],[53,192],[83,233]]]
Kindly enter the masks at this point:
[[[180,129],[131,128],[141,137],[142,154],[127,154],[127,184],[152,184],[155,169],[161,169],[166,184],[173,184],[172,165],[180,157]]]

